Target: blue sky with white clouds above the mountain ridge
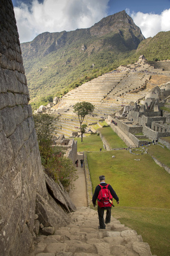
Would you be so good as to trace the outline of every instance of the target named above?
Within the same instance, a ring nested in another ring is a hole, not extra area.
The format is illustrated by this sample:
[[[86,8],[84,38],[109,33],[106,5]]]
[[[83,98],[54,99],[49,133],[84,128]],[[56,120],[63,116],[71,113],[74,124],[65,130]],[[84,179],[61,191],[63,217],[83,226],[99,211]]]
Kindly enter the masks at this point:
[[[170,0],[12,0],[20,43],[42,32],[88,28],[125,10],[145,38],[170,30]]]

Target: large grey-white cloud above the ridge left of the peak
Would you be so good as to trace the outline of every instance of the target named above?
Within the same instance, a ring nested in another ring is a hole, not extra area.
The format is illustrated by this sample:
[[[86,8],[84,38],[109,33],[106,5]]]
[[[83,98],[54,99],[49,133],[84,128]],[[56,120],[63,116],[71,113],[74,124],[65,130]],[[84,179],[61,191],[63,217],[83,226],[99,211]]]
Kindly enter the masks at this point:
[[[109,0],[33,0],[14,7],[20,42],[33,40],[42,32],[87,28],[107,16]]]

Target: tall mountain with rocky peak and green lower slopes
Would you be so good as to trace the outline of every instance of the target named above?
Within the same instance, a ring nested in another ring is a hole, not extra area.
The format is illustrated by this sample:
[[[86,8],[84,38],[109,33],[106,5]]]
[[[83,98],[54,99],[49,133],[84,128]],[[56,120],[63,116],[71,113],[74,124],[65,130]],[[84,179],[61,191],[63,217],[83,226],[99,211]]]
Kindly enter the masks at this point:
[[[44,32],[22,43],[31,101],[59,96],[116,68],[144,39],[133,19],[121,11],[90,28]]]

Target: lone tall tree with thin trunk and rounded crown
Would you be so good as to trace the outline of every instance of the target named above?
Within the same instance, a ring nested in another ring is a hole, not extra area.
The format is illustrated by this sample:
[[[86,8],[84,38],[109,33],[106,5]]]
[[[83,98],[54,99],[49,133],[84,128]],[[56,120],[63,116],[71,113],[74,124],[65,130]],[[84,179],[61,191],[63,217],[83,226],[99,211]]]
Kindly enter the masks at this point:
[[[84,117],[86,117],[86,115],[88,114],[91,114],[94,111],[95,107],[90,102],[82,101],[82,102],[77,102],[73,108],[74,108],[74,113],[76,113],[79,118],[80,133],[83,141],[82,123],[84,121]]]

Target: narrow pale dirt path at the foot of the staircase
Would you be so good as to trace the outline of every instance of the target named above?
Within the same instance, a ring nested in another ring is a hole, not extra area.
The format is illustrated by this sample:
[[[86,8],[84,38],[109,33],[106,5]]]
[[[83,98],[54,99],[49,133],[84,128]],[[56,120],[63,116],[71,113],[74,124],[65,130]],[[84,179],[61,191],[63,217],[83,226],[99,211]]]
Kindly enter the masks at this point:
[[[81,168],[80,159],[83,159],[83,154],[78,154],[79,163],[76,174],[78,175],[78,179],[74,181],[75,189],[70,192],[71,201],[74,203],[75,207],[88,207],[87,204],[87,188],[86,188],[86,177],[84,175],[84,164],[83,168]]]

